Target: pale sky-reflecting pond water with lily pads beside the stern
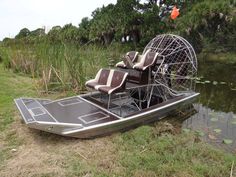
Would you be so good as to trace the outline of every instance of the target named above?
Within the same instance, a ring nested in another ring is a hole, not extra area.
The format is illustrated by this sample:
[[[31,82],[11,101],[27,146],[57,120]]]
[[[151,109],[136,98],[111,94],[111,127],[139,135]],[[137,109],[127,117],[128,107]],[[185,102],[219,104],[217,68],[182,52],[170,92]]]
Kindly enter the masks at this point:
[[[233,112],[215,111],[202,104],[194,104],[197,113],[186,119],[182,127],[196,131],[202,139],[220,148],[235,151],[236,115]],[[229,144],[224,141],[232,140]]]

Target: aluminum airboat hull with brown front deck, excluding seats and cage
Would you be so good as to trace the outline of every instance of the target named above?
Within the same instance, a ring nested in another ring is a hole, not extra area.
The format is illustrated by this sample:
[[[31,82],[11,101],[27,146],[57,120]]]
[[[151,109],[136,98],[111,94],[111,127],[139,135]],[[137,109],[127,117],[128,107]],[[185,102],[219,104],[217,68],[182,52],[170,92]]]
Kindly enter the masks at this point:
[[[15,99],[15,103],[25,124],[30,128],[62,136],[92,138],[157,121],[172,111],[192,103],[198,95],[199,93],[186,94],[125,118],[84,99],[83,95],[56,101],[19,98]],[[85,108],[88,108],[86,115],[80,115]],[[56,109],[59,109],[58,114]]]

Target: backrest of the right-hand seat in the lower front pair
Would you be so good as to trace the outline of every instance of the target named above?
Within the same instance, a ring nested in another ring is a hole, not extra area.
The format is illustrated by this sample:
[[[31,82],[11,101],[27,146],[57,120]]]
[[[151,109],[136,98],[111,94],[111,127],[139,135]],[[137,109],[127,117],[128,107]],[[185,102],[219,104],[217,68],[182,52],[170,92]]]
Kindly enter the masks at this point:
[[[128,73],[115,70],[111,79],[111,87],[122,87],[125,84]]]

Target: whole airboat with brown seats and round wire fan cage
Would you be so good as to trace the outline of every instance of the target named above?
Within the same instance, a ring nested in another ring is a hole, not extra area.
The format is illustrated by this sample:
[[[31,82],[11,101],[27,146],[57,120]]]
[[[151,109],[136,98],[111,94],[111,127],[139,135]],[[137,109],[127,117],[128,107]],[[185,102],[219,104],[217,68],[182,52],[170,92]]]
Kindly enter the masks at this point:
[[[184,38],[157,35],[144,51],[130,51],[114,68],[86,82],[88,93],[60,100],[18,98],[15,104],[33,129],[91,138],[166,117],[191,104],[197,57]]]

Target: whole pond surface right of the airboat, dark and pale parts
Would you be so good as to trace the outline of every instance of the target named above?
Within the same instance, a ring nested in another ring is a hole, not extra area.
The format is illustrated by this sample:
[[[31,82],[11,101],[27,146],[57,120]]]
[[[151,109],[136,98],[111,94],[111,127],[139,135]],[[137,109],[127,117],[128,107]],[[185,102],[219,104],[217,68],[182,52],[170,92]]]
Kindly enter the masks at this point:
[[[200,62],[198,77],[197,113],[183,121],[183,131],[193,130],[210,144],[236,152],[236,64]]]

